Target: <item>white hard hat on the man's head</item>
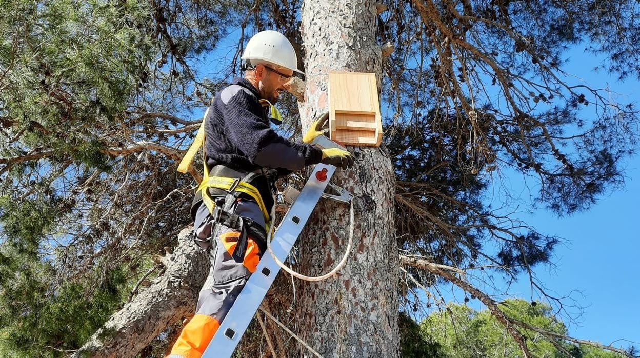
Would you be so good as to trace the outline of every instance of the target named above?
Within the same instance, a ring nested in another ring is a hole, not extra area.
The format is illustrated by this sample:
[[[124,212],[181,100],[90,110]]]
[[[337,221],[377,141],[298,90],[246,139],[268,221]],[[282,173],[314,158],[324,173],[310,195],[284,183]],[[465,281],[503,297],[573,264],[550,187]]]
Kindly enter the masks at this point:
[[[253,35],[244,48],[241,60],[251,67],[269,62],[304,74],[298,70],[298,56],[296,56],[293,45],[278,31],[260,31]]]

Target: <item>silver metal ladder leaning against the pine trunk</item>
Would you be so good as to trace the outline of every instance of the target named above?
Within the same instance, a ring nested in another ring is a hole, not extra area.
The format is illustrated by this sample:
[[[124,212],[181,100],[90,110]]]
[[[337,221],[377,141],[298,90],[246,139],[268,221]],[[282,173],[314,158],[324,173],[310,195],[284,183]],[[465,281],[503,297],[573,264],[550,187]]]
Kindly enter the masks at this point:
[[[323,149],[345,149],[326,136],[317,136],[313,144]],[[280,222],[271,241],[271,250],[281,262],[284,262],[289,256],[289,251],[298,240],[298,236],[300,236],[321,197],[342,202],[349,202],[353,199],[351,193],[329,183],[334,173],[335,167],[333,165],[317,164],[304,188],[300,191],[300,195],[282,218],[282,222]],[[324,193],[327,186],[335,190],[338,195]],[[279,271],[278,263],[271,255],[265,253],[260,259],[257,269],[249,277],[227,316],[221,322],[209,346],[202,354],[202,358],[231,357]]]

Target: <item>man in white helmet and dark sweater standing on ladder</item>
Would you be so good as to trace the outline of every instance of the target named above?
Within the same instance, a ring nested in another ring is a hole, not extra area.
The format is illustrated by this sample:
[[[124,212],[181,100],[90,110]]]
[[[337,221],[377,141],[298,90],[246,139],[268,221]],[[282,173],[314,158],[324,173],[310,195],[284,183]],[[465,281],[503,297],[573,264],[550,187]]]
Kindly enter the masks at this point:
[[[322,135],[325,113],[303,142],[292,143],[269,126],[279,124],[273,107],[297,68],[293,46],[276,31],[257,33],[246,45],[244,78],[237,78],[211,103],[198,137],[180,163],[185,172],[204,142],[204,179],[191,206],[195,241],[209,250],[211,271],[196,314],[182,329],[170,358],[200,358],[266,249],[266,229],[278,177],[324,163],[346,169],[353,158],[339,148],[310,143]],[[271,118],[269,118],[271,117]]]

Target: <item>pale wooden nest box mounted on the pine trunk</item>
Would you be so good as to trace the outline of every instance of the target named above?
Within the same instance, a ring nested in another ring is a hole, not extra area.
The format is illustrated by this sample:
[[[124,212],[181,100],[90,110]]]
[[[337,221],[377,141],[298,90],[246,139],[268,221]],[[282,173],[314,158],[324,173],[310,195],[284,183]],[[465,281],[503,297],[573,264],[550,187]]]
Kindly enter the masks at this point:
[[[382,120],[376,74],[329,73],[330,138],[344,145],[380,147]]]

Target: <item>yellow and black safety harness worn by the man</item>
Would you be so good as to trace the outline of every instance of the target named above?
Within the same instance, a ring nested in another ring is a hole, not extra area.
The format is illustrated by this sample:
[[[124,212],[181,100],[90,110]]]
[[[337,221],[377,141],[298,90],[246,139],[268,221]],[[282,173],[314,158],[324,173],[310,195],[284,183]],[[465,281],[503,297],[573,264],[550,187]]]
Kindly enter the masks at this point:
[[[262,106],[271,107],[271,121],[282,122],[280,112],[266,99],[260,99]],[[196,134],[195,140],[191,143],[188,151],[180,161],[178,165],[178,171],[180,173],[186,173],[195,157],[198,149],[204,145],[206,140],[205,136],[205,120],[209,114],[209,108],[204,113],[200,129]],[[216,224],[216,229],[212,232],[212,238],[215,238],[222,224],[230,229],[238,231],[240,233],[237,239],[236,248],[232,254],[232,257],[236,262],[242,262],[244,260],[244,253],[248,247],[248,238],[251,236],[254,239],[260,251],[264,252],[267,246],[266,232],[271,225],[271,216],[269,210],[264,204],[263,198],[267,195],[271,195],[271,188],[273,182],[270,182],[272,175],[269,175],[268,170],[259,168],[253,172],[242,172],[234,170],[233,168],[226,167],[225,165],[216,165],[213,168],[209,168],[207,165],[206,154],[203,150],[203,178],[202,182],[196,190],[196,195],[191,204],[191,216],[195,218],[195,212],[202,203],[205,204],[211,218]],[[259,190],[257,186],[261,187]],[[241,199],[253,200],[260,207],[260,211],[264,216],[264,222],[266,228],[259,224],[255,224],[251,218],[236,215],[237,203]],[[196,240],[200,241],[198,238]],[[215,240],[211,240],[211,247],[215,245]]]

